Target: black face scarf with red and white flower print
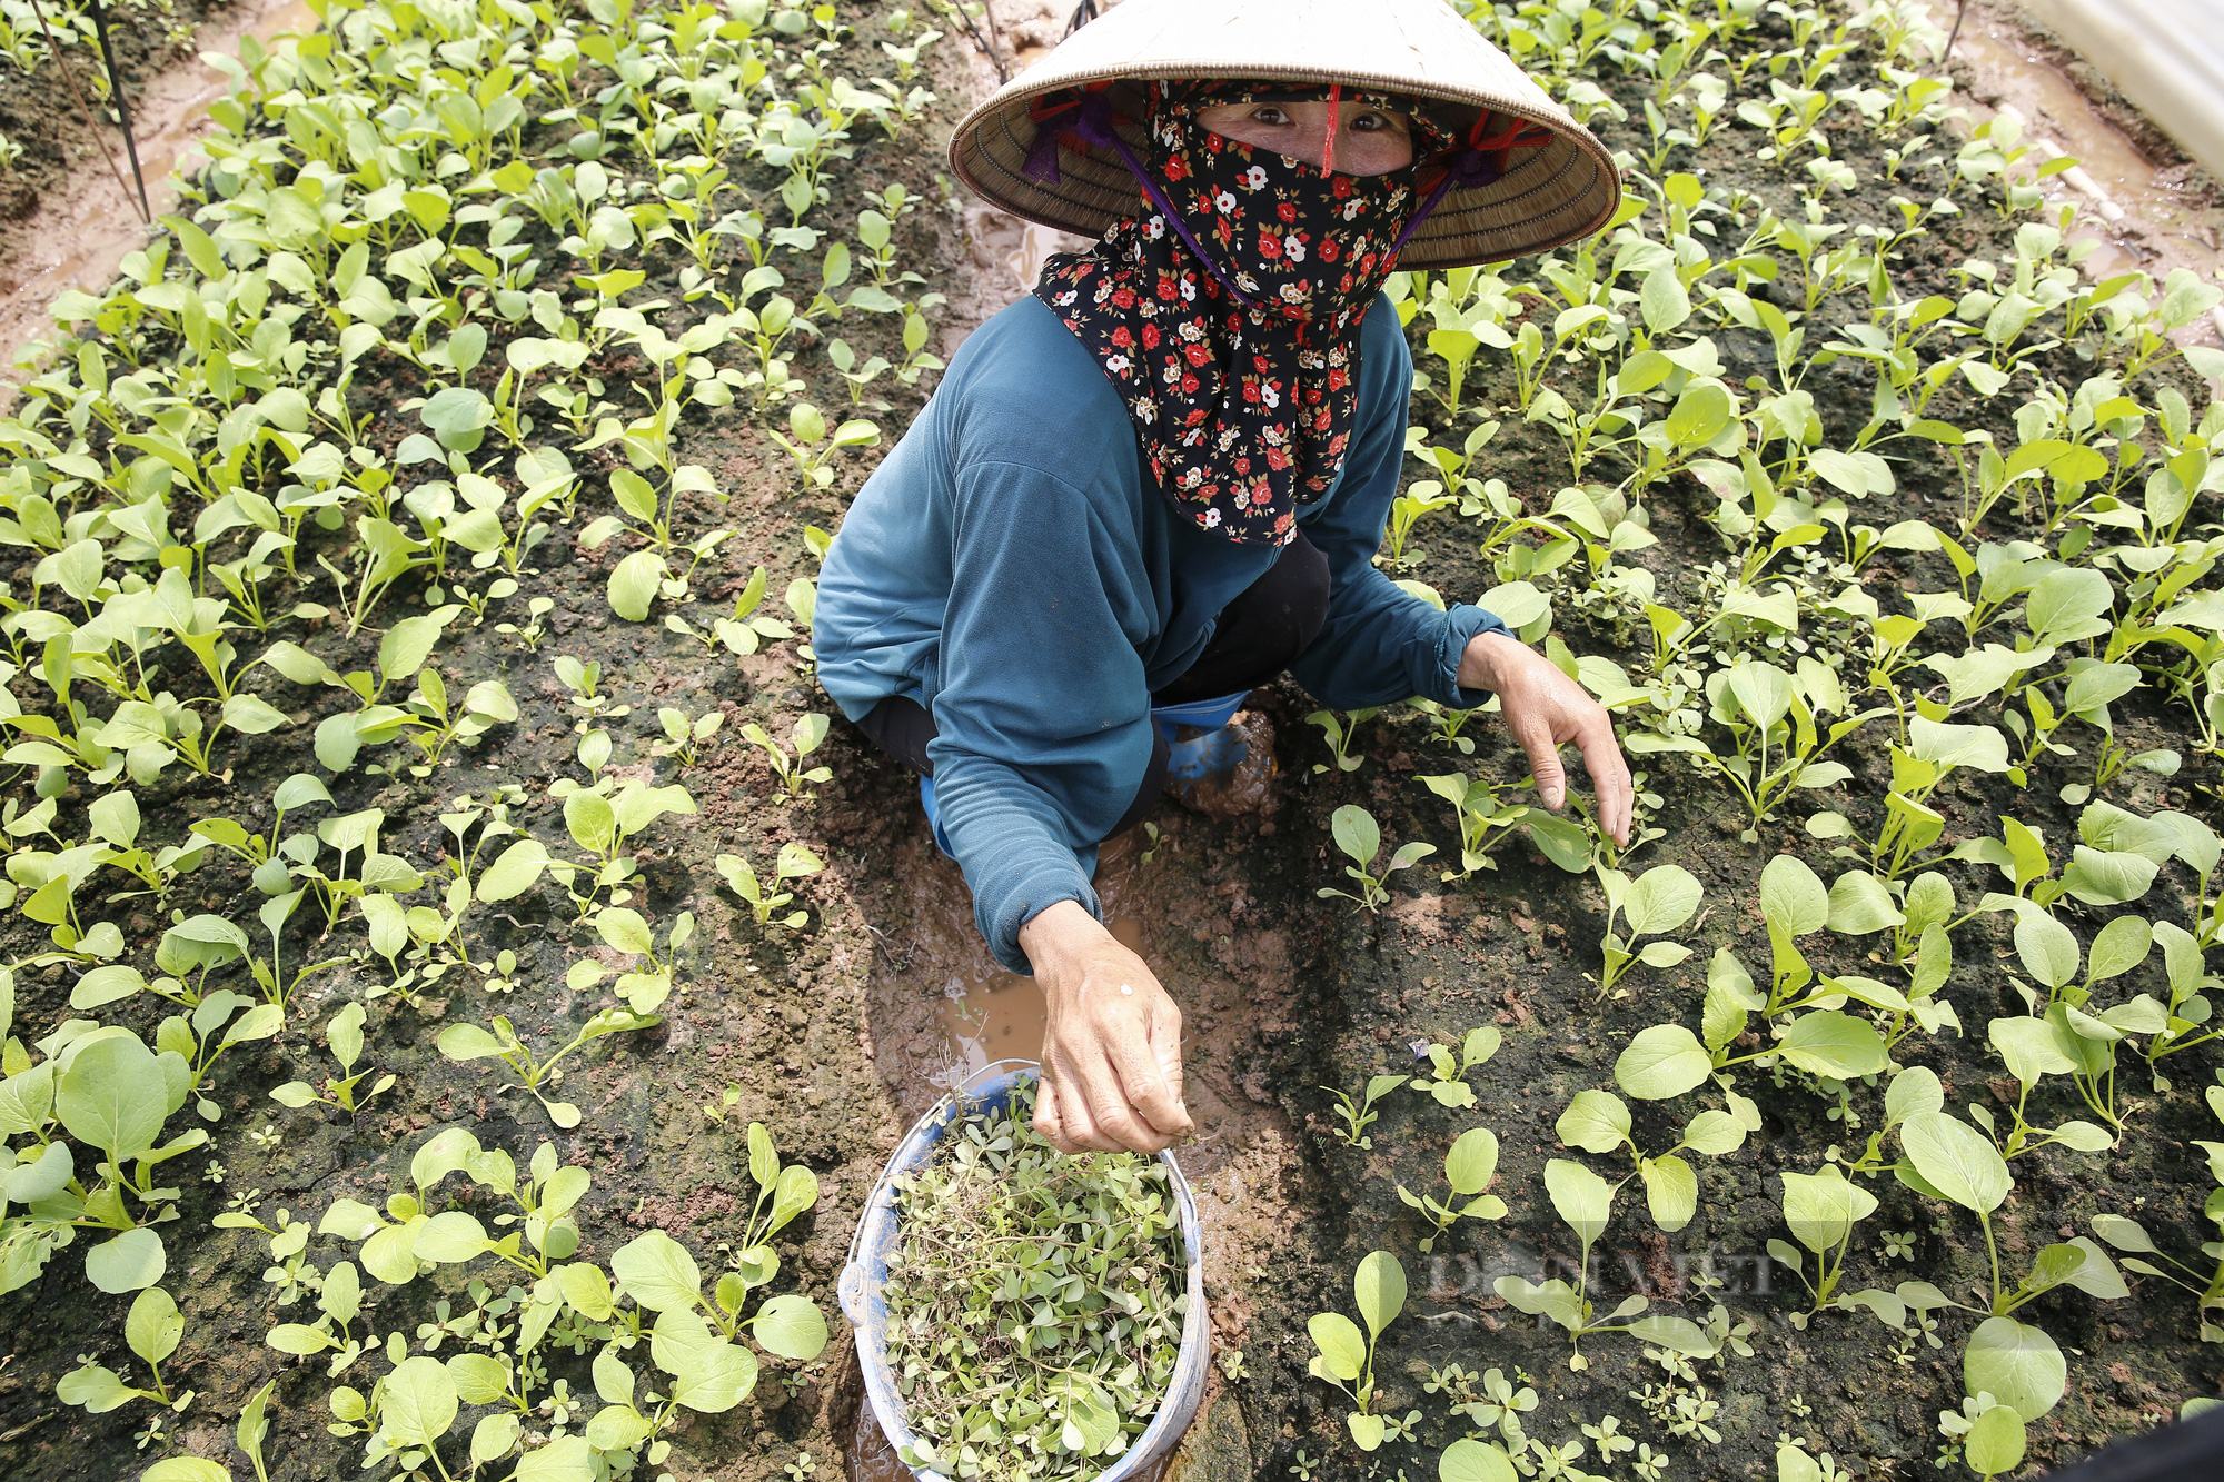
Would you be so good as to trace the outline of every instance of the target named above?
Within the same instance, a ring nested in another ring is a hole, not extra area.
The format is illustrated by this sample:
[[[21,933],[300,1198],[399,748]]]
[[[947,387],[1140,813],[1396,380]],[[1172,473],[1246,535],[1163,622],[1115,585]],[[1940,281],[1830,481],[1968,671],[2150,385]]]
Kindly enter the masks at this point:
[[[1343,470],[1359,323],[1419,205],[1412,165],[1334,174],[1332,158],[1328,169],[1303,165],[1197,122],[1210,105],[1268,100],[1410,109],[1326,85],[1152,85],[1143,158],[1114,140],[1145,178],[1136,216],[1090,251],[1052,256],[1034,285],[1128,403],[1150,472],[1181,514],[1241,545],[1285,545],[1297,505],[1326,496]],[[1039,102],[1043,138],[1070,127],[1059,118],[1068,109],[1083,109],[1083,140],[1110,134],[1101,93]],[[1414,160],[1448,142],[1419,113],[1412,136]]]

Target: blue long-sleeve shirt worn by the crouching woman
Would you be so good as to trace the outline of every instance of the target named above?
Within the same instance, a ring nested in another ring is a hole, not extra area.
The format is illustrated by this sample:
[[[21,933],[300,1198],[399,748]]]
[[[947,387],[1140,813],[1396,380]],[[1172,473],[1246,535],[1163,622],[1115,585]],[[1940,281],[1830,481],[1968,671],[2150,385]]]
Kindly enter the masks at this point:
[[[1361,329],[1359,414],[1337,487],[1299,505],[1328,556],[1328,621],[1290,665],[1339,710],[1428,696],[1472,708],[1459,656],[1488,612],[1450,612],[1374,567],[1406,449],[1412,356],[1397,309]],[[1277,559],[1197,530],[1150,478],[1128,407],[1036,298],[981,325],[865,481],[818,576],[818,683],[852,721],[919,701],[943,830],[1001,964],[1059,901],[1101,917],[1096,843],[1150,765],[1150,694]]]

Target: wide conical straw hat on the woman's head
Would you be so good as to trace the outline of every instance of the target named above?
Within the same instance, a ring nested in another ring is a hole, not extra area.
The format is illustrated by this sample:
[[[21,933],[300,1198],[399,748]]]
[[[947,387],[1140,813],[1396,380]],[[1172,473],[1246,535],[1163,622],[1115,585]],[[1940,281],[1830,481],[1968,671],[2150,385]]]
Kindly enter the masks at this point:
[[[1543,147],[1512,149],[1488,185],[1454,185],[1399,254],[1401,267],[1503,263],[1606,227],[1621,180],[1606,147],[1483,40],[1443,0],[1125,0],[1065,38],[959,122],[950,162],[979,196],[1025,220],[1101,236],[1134,214],[1139,187],[1110,151],[1061,142],[1054,180],[1023,174],[1043,93],[1112,82],[1125,118],[1145,109],[1152,78],[1343,82],[1406,93],[1463,138],[1481,111],[1550,129]],[[1054,122],[1048,127],[1056,127]],[[1143,145],[1141,125],[1119,125]]]

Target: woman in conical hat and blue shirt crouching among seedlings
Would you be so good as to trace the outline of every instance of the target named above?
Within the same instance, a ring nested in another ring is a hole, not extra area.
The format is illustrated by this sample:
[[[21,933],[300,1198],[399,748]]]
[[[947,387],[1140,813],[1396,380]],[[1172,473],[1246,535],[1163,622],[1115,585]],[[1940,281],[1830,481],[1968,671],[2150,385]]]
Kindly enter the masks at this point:
[[[1548,808],[1581,748],[1630,821],[1606,712],[1492,614],[1372,556],[1412,360],[1392,267],[1575,240],[1619,205],[1595,138],[1443,0],[1128,0],[967,116],[952,162],[1101,234],[952,358],[818,581],[827,694],[921,774],[974,919],[1048,1006],[1036,1128],[1188,1130],[1181,1010],[1099,921],[1099,841],[1288,670],[1341,710],[1495,692]]]

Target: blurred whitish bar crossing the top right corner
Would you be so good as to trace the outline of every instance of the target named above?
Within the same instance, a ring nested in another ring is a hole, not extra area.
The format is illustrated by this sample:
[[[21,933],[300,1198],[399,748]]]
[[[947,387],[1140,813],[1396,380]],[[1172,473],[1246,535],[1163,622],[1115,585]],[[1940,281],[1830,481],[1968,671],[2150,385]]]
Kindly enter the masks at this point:
[[[2022,0],[2117,91],[2224,176],[2224,0]]]

